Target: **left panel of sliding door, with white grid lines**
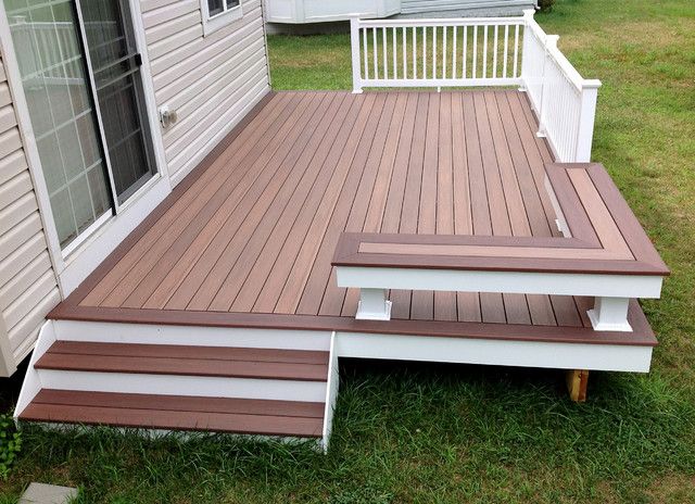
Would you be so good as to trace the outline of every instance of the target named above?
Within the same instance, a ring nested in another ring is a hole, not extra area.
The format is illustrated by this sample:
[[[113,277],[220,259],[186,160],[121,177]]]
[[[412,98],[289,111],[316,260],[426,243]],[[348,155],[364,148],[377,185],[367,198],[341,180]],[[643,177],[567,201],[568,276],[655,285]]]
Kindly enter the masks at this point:
[[[4,0],[61,247],[112,202],[72,0]]]

